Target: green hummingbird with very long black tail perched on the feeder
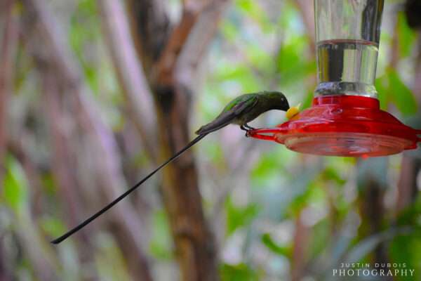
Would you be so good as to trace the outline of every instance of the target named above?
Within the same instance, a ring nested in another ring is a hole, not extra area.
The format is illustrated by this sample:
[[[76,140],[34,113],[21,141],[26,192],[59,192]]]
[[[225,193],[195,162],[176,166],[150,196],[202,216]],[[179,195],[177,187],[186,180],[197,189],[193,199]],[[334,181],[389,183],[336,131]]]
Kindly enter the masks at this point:
[[[175,153],[172,157],[170,157],[166,162],[159,165],[154,171],[150,174],[142,178],[141,181],[133,185],[132,188],[128,189],[122,195],[117,197],[114,201],[110,202],[104,208],[100,209],[97,213],[93,214],[86,221],[83,221],[76,226],[72,230],[69,230],[64,235],[58,237],[57,239],[51,241],[53,244],[59,244],[60,242],[64,241],[70,235],[73,235],[77,231],[81,230],[83,227],[87,226],[91,223],[95,218],[102,215],[108,209],[111,209],[115,204],[123,200],[127,195],[133,192],[136,188],[138,188],[142,183],[145,183],[151,176],[153,176],[157,171],[162,169],[164,166],[172,162],[174,159],[182,155],[183,152],[191,148],[193,145],[198,143],[202,138],[207,136],[209,133],[214,131],[218,131],[223,127],[227,126],[228,124],[237,124],[240,126],[240,129],[246,131],[246,136],[248,136],[247,132],[253,130],[254,128],[248,126],[248,122],[253,121],[256,117],[265,113],[269,110],[283,110],[287,111],[290,109],[288,104],[288,100],[283,93],[278,91],[261,91],[258,93],[246,93],[241,96],[234,98],[231,102],[229,102],[220,115],[216,117],[212,122],[201,126],[199,130],[196,131],[196,138],[193,141],[190,141],[184,148],[182,148],[179,152]]]

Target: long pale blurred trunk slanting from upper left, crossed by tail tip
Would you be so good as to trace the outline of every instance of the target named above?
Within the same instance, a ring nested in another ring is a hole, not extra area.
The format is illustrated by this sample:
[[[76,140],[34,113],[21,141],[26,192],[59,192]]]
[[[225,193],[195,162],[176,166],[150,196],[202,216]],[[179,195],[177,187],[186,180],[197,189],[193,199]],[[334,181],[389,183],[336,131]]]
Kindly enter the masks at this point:
[[[60,81],[62,91],[69,93],[68,98],[74,106],[72,113],[76,117],[75,121],[81,130],[81,135],[88,141],[88,156],[93,162],[95,183],[102,188],[107,201],[110,201],[121,194],[122,188],[126,186],[119,169],[120,159],[113,133],[100,119],[98,108],[91,100],[92,95],[84,83],[83,74],[65,39],[60,36],[63,33],[59,32],[58,24],[48,11],[48,5],[42,0],[22,2],[26,8],[26,20],[29,21],[25,29],[27,37],[36,31],[32,35],[36,37],[37,43],[34,44],[32,41],[32,44],[29,44],[30,51],[40,67],[42,64],[53,67],[55,78]],[[36,27],[36,30],[33,27]],[[135,279],[152,280],[149,261],[143,250],[142,227],[133,207],[125,202],[116,206],[111,213],[114,214],[114,223],[124,232],[124,235],[117,235],[119,244],[131,246],[122,249],[128,250],[125,255],[128,256],[128,261],[131,261],[129,268]]]

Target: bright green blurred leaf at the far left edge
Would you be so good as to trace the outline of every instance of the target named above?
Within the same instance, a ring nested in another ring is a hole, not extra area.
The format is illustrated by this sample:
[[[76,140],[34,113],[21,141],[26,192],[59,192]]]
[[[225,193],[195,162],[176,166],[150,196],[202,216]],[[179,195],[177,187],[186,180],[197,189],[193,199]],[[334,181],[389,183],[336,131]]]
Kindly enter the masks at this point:
[[[3,197],[6,204],[16,212],[24,209],[27,203],[28,184],[25,172],[14,157],[6,159]]]

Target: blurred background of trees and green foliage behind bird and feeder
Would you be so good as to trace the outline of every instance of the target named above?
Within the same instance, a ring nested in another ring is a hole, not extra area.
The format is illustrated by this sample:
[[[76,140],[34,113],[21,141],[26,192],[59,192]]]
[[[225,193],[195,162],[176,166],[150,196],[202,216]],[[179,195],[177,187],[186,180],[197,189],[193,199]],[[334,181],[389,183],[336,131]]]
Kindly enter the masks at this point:
[[[376,86],[421,129],[419,7],[386,1]],[[310,0],[2,0],[0,280],[337,280],[352,262],[405,263],[416,276],[378,280],[421,280],[419,149],[314,157],[236,126],[49,243],[235,96],[309,106],[313,13]]]

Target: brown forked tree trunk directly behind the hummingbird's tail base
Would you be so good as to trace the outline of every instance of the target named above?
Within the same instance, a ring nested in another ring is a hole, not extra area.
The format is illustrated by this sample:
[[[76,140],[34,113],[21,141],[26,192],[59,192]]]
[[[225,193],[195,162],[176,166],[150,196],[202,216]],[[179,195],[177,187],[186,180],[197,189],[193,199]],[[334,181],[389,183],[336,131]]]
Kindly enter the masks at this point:
[[[128,1],[138,55],[156,101],[161,159],[167,159],[189,142],[194,70],[226,3],[184,1],[182,18],[170,30],[161,1]],[[168,166],[164,175],[163,202],[182,280],[218,280],[215,244],[203,215],[192,152]]]

